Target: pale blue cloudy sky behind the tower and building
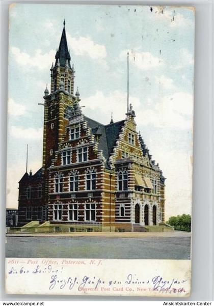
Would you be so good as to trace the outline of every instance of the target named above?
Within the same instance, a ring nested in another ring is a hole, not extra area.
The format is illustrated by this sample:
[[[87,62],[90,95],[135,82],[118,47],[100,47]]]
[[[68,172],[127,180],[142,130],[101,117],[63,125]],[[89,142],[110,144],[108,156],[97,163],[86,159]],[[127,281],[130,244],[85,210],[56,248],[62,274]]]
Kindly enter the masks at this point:
[[[129,102],[138,131],[166,179],[166,219],[191,213],[194,89],[193,8],[15,4],[10,7],[7,207],[17,208],[18,181],[42,164],[43,96],[63,30],[74,92],[84,114],[108,124]]]

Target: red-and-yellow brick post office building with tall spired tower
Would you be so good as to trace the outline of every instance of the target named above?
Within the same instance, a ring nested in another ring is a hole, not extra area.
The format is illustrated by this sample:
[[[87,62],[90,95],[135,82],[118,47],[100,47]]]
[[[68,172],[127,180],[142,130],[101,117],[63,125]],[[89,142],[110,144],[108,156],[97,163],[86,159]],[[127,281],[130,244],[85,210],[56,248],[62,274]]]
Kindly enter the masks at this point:
[[[65,24],[44,95],[42,168],[19,181],[18,222],[123,226],[163,223],[165,178],[136,130],[124,120],[103,125],[86,117],[74,95]]]

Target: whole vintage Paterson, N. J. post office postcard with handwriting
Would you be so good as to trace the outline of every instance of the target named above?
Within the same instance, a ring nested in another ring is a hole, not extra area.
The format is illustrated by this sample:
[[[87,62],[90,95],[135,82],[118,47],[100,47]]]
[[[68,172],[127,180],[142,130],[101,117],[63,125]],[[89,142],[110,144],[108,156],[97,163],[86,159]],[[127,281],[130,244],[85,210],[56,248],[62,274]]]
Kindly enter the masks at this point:
[[[191,294],[193,7],[14,4],[6,290]]]

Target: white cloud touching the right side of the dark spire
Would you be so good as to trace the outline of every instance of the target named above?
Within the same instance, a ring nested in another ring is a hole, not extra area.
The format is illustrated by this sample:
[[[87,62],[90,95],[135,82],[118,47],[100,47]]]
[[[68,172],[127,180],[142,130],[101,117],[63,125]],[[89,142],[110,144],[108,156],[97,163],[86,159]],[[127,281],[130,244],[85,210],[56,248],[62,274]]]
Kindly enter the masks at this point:
[[[76,55],[88,55],[93,60],[106,58],[107,53],[105,46],[96,44],[89,36],[75,38],[67,33],[67,41]]]

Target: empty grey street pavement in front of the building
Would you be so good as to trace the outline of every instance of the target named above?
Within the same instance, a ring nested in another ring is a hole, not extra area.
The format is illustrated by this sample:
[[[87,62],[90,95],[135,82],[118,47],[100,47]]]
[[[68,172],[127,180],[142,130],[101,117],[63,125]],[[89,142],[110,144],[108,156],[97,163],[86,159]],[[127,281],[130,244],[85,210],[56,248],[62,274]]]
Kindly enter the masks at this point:
[[[7,235],[6,257],[190,259],[191,256],[190,233],[137,233],[141,235],[132,237],[130,237],[132,233],[129,233],[129,237],[109,234],[109,237],[108,235]]]

